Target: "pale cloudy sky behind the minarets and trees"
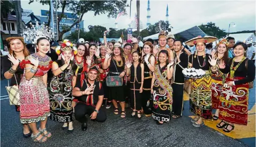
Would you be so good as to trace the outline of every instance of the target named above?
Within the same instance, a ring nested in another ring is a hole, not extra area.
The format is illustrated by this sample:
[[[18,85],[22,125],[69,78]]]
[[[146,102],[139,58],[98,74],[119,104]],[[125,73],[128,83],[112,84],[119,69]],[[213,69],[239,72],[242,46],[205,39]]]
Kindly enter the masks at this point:
[[[36,16],[41,16],[42,10],[49,10],[48,5],[39,2],[28,4],[29,1],[21,1],[22,9],[32,10]],[[130,0],[127,1],[130,5]],[[166,8],[169,9],[169,23],[173,29],[187,29],[207,22],[214,22],[216,26],[228,32],[242,30],[255,30],[255,1],[150,1],[150,23],[155,24],[159,20],[166,20]],[[126,7],[126,16],[118,20],[118,29],[127,28],[129,22],[130,7]],[[136,1],[131,3],[131,17],[136,13]],[[140,19],[144,28],[147,23],[147,0],[140,1]],[[88,25],[100,25],[107,29],[115,28],[115,18],[108,18],[107,14],[94,16],[93,12],[87,12],[82,18],[84,28]]]

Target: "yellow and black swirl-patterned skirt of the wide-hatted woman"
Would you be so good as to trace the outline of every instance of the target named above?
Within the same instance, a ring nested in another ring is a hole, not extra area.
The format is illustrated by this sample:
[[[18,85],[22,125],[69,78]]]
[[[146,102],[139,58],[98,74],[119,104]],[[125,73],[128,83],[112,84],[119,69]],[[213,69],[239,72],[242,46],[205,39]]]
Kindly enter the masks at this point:
[[[212,78],[209,71],[191,84],[190,111],[201,118],[212,119]]]

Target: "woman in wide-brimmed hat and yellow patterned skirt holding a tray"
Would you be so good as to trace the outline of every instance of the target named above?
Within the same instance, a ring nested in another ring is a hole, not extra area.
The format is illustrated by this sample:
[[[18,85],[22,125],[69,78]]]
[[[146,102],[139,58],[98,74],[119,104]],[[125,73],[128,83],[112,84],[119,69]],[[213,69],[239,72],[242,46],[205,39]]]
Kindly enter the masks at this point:
[[[216,37],[212,36],[198,36],[185,42],[187,45],[195,45],[197,51],[189,57],[189,66],[195,69],[202,69],[206,72],[202,78],[190,79],[192,85],[192,91],[190,95],[190,111],[196,116],[191,120],[194,127],[200,127],[204,125],[202,119],[212,119],[212,78],[210,76],[210,66],[212,71],[216,71],[216,63],[214,63],[211,55],[206,55],[205,46],[206,43],[216,41]],[[214,52],[212,52],[214,55]]]

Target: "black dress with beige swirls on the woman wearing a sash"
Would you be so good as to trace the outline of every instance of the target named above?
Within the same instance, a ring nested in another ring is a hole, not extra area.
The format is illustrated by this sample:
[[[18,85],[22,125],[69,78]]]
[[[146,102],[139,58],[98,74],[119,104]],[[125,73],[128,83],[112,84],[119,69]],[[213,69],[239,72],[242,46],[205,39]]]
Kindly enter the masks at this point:
[[[171,86],[169,86],[170,88],[168,89],[170,89],[171,92],[170,94],[168,94],[167,90],[165,90],[160,84],[161,80],[169,81],[167,79],[167,65],[165,65],[161,69],[160,67],[156,67],[155,75],[156,73],[160,73],[162,76],[160,76],[158,79],[156,78],[156,80],[154,81],[152,118],[157,121],[169,122],[172,102],[172,88]]]

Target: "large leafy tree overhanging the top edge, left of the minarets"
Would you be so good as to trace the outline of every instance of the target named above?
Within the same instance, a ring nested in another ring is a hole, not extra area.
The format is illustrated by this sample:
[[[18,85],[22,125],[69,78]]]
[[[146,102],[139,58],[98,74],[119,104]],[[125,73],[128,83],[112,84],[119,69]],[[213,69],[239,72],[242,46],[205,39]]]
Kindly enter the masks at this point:
[[[29,1],[29,3],[33,2],[34,0]],[[49,1],[46,2],[46,0],[40,0],[39,2],[41,4],[44,3],[50,5]],[[94,11],[94,16],[108,13],[108,17],[115,18],[119,10],[125,11],[125,7],[128,6],[126,2],[127,1],[57,1],[57,8],[62,10],[61,13],[58,14],[58,37],[62,38],[64,33],[69,32],[72,27],[79,24],[84,14],[89,11]],[[71,26],[62,26],[61,31],[59,28],[59,23],[61,22],[62,18],[65,17],[65,10],[71,11],[74,14],[78,14],[79,18],[75,19]]]

